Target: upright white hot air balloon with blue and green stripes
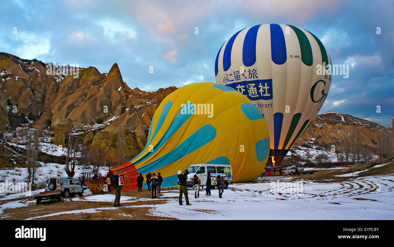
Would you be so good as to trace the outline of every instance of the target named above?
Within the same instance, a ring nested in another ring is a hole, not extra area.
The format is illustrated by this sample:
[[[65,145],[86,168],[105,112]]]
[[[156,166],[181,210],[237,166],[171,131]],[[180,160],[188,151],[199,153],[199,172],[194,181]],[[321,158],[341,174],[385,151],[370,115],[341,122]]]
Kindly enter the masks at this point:
[[[270,156],[280,164],[327,97],[331,59],[309,31],[284,24],[256,25],[222,45],[215,76],[217,83],[245,95],[264,115]]]

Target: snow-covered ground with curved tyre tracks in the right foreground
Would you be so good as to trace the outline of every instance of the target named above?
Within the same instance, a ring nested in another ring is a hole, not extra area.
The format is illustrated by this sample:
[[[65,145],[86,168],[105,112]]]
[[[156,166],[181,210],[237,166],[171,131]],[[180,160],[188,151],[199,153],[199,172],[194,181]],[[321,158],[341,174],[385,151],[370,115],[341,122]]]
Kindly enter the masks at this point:
[[[302,194],[271,193],[276,184],[269,182],[273,179],[233,184],[221,199],[217,190],[212,190],[212,196],[200,192],[197,199],[189,193],[190,206],[180,206],[177,198],[169,198],[149,212],[177,219],[394,219],[393,175],[347,182],[303,181]],[[177,195],[175,191],[164,193],[165,197]]]

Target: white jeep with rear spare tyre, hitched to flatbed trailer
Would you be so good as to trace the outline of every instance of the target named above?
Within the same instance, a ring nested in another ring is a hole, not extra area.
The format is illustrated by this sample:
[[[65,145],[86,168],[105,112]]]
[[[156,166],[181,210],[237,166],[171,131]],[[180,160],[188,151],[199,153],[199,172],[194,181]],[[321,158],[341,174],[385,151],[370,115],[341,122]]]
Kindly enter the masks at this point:
[[[78,178],[73,177],[48,177],[46,178],[45,191],[61,190],[63,197],[74,197],[76,194],[82,196],[87,186],[80,184]]]

